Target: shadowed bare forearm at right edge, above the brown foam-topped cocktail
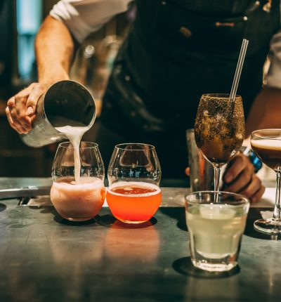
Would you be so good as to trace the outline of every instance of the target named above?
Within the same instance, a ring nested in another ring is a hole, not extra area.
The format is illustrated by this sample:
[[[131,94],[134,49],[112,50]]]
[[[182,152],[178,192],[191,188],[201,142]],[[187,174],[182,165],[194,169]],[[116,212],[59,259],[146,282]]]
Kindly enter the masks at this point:
[[[263,88],[256,96],[246,123],[246,138],[251,131],[281,128],[281,89]]]

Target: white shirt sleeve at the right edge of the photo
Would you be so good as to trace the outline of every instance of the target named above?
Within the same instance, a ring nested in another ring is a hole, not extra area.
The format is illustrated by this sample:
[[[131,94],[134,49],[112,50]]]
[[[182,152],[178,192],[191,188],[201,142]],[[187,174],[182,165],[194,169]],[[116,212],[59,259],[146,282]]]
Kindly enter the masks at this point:
[[[270,66],[264,79],[267,87],[281,88],[281,30],[270,41]]]

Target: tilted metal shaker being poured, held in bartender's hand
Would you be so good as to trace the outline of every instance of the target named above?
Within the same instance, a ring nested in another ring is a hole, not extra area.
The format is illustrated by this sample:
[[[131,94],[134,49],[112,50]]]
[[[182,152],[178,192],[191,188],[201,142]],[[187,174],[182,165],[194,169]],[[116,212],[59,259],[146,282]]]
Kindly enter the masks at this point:
[[[90,91],[76,81],[58,81],[38,100],[32,130],[22,134],[30,147],[41,147],[66,139],[55,127],[87,126],[96,119],[96,105]]]

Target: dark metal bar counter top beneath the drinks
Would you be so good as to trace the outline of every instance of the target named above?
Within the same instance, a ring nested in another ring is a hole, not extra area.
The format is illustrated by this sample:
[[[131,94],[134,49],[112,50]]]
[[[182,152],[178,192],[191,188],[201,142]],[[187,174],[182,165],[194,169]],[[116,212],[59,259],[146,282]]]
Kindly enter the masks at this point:
[[[0,178],[0,189],[50,184]],[[95,220],[71,223],[46,200],[0,200],[0,301],[280,301],[281,242],[254,231],[259,209],[250,209],[239,266],[209,274],[190,263],[188,189],[162,192],[155,217],[138,226],[119,223],[107,207]]]

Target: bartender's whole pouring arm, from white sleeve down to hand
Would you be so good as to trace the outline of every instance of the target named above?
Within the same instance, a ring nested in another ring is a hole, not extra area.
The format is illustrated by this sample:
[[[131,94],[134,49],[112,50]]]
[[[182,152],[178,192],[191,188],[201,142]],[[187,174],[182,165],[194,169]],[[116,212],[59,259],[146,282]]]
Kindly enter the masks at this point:
[[[8,122],[18,133],[32,129],[39,97],[51,84],[69,79],[74,40],[81,43],[131,0],[60,0],[44,20],[35,40],[38,81],[8,100]],[[74,39],[72,39],[74,37]]]

